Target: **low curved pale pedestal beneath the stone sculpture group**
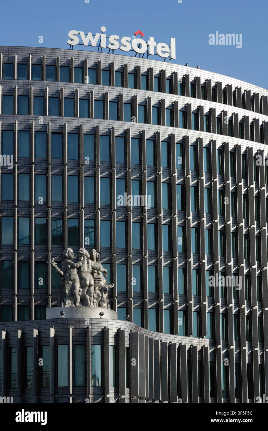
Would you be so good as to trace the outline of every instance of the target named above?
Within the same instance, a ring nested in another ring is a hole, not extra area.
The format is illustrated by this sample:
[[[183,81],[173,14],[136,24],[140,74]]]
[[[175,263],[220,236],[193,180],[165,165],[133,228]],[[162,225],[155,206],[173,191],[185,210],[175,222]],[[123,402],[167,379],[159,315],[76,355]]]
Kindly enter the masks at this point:
[[[61,311],[65,315],[61,315]],[[100,315],[104,312],[104,315]],[[117,320],[117,312],[109,308],[102,307],[51,307],[46,309],[46,319],[63,319],[80,318],[80,319],[113,319]]]

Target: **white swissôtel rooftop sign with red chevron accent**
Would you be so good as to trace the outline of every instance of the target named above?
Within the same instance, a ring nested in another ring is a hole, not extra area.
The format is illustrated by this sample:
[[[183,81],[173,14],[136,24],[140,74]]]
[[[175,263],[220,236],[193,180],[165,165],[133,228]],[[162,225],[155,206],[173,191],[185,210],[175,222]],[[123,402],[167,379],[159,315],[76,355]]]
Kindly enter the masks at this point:
[[[102,48],[108,48],[109,50],[121,50],[121,51],[135,51],[138,54],[147,53],[148,55],[154,55],[154,48],[156,50],[156,54],[160,57],[166,58],[169,57],[169,59],[175,59],[176,58],[176,40],[171,37],[170,39],[170,47],[169,45],[160,42],[157,44],[157,42],[154,41],[154,37],[149,37],[148,41],[145,42],[142,38],[137,38],[136,35],[140,34],[141,37],[144,36],[142,31],[138,30],[136,31],[135,37],[129,37],[129,36],[123,36],[120,38],[120,36],[117,36],[117,34],[111,34],[111,36],[106,36],[104,33],[106,31],[106,28],[103,26],[101,27],[102,33],[88,33],[85,34],[83,31],[77,31],[77,30],[71,30],[68,33],[68,41],[67,43],[74,47],[74,45],[84,45],[87,47],[88,45],[91,45],[92,47],[100,47]],[[80,37],[78,36],[80,35]],[[107,39],[109,44],[107,45]],[[82,41],[82,43],[80,42]]]

